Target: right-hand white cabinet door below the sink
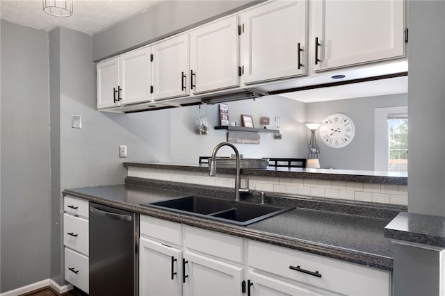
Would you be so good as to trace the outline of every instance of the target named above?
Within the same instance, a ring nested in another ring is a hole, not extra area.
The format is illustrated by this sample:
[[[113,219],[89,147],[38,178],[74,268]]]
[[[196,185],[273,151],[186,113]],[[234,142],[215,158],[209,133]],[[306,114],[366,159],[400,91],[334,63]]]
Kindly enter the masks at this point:
[[[242,295],[243,268],[189,252],[184,260],[184,295]]]

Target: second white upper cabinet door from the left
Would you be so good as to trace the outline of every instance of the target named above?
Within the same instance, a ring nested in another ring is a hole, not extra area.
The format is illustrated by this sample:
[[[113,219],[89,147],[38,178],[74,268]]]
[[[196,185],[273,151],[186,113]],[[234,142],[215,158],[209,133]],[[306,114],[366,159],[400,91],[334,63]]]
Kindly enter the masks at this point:
[[[121,104],[151,101],[150,48],[143,47],[120,56]]]

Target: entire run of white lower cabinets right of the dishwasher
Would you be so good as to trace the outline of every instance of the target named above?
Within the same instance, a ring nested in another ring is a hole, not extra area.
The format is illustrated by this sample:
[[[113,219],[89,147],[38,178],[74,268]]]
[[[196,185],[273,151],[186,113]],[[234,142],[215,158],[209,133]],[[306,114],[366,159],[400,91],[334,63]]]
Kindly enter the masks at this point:
[[[391,272],[140,216],[140,296],[392,295]]]

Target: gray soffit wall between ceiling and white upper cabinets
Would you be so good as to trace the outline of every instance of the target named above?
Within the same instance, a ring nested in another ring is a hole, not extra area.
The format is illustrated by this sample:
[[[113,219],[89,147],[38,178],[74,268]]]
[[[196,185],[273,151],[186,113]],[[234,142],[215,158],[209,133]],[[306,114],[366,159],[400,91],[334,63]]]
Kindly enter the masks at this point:
[[[94,35],[92,58],[102,60],[262,1],[163,1]]]

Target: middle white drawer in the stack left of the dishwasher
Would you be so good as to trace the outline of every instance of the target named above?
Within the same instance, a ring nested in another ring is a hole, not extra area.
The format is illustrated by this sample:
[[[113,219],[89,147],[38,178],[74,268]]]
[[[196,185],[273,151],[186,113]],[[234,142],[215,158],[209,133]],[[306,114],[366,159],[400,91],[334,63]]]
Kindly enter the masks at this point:
[[[63,214],[63,245],[88,256],[88,220]]]

